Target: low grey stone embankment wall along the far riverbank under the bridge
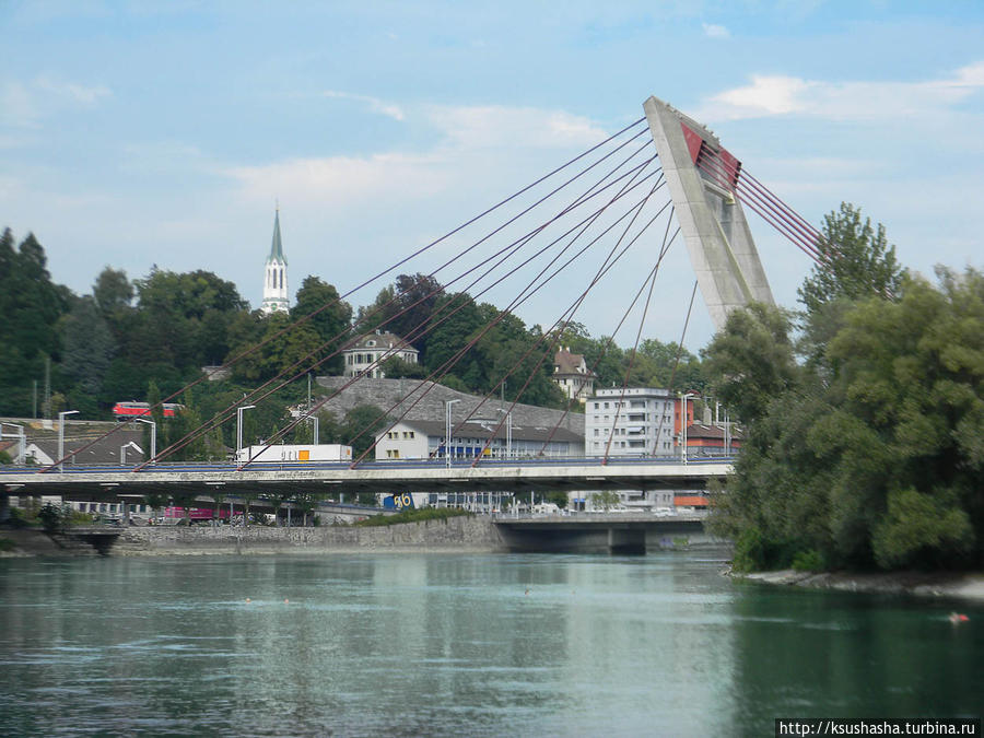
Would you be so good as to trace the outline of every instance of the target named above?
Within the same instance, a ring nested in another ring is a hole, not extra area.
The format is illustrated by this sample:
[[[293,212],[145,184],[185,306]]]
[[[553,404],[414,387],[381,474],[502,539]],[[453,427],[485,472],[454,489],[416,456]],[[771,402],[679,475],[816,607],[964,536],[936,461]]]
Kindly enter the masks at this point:
[[[122,531],[110,555],[200,553],[290,553],[317,551],[499,551],[499,531],[489,518],[453,517],[391,526],[160,526]]]

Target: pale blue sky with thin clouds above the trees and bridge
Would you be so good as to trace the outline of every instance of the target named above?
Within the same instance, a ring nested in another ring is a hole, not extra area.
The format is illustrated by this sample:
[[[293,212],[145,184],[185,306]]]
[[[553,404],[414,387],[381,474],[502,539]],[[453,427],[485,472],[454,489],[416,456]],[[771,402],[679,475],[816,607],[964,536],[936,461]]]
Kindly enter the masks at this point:
[[[976,1],[0,0],[0,227],[33,232],[79,294],[106,266],[204,269],[259,307],[278,204],[292,292],[313,274],[345,293],[639,119],[649,95],[815,225],[852,202],[913,271],[982,268]],[[796,307],[811,262],[747,216],[776,302]],[[591,335],[635,293],[663,234],[646,238],[575,316]],[[552,325],[586,276],[519,316]],[[675,246],[644,338],[680,339],[692,285]],[[698,300],[684,344],[712,335]]]

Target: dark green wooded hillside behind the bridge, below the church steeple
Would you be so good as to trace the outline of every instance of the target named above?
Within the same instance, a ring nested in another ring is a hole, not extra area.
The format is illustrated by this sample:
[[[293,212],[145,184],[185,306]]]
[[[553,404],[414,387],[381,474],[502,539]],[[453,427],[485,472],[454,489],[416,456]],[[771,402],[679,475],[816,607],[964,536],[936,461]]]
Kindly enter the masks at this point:
[[[341,374],[339,350],[375,329],[405,337],[420,352],[419,364],[388,361],[389,377],[432,377],[462,391],[530,405],[566,407],[550,378],[561,347],[585,354],[598,386],[704,385],[700,360],[673,343],[645,340],[633,359],[579,324],[544,335],[538,325],[527,326],[467,293],[447,292],[420,273],[399,274],[358,311],[339,298],[335,285],[314,276],[303,280],[289,314],[265,315],[250,311],[236,285],[218,274],[156,267],[136,280],[106,267],[91,293],[80,296],[51,281],[33,235],[17,245],[9,229],[0,236],[0,415],[50,418],[72,409],[80,419],[108,420],[118,401],[153,405],[173,398],[186,410],[176,419],[159,413],[159,450],[185,444],[201,421],[242,403],[260,386],[272,394],[245,414],[245,436],[270,437],[286,423],[288,409],[306,401],[307,376]],[[232,363],[227,379],[183,391],[202,378],[202,367],[225,363]],[[347,443],[344,434],[356,434],[353,423],[368,414],[325,419],[321,440]],[[226,421],[171,458],[216,458],[223,445],[234,445],[232,434]],[[298,426],[288,440],[300,442],[305,434],[309,427]]]

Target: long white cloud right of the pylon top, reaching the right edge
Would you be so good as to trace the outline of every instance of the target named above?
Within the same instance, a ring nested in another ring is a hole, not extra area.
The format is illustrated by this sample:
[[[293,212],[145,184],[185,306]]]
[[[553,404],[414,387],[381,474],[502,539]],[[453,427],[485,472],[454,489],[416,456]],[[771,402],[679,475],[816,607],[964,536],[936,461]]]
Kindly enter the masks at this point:
[[[984,62],[926,82],[825,82],[755,74],[751,84],[711,97],[698,113],[710,120],[777,115],[874,120],[935,115],[984,89]]]

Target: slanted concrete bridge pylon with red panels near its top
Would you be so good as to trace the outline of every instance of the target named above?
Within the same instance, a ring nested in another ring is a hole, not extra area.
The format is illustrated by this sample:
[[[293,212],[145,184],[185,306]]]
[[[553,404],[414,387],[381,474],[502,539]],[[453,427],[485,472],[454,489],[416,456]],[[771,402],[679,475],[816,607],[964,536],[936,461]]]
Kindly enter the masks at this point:
[[[735,197],[741,163],[711,131],[661,99],[649,97],[643,108],[701,294],[721,330],[733,309],[751,301],[773,303]]]

